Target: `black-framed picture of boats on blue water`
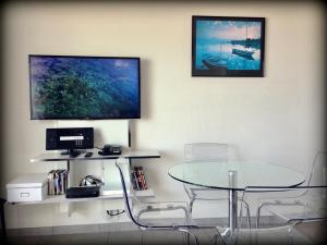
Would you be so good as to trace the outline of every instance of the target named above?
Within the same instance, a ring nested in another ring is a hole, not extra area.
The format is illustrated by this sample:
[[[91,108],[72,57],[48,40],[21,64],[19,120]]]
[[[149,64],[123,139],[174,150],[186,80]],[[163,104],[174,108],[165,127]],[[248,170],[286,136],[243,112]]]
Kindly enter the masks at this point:
[[[192,76],[264,76],[265,19],[192,16]]]

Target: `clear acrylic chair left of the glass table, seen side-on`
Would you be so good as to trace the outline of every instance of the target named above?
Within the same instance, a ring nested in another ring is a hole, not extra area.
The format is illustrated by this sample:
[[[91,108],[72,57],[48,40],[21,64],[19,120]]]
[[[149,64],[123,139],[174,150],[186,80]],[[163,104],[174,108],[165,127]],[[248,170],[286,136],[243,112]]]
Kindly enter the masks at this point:
[[[185,234],[190,243],[192,236],[198,245],[198,240],[190,229],[197,229],[191,219],[190,208],[184,201],[142,201],[137,198],[131,185],[130,164],[126,159],[118,159],[116,166],[119,170],[125,211],[134,224],[141,230],[170,230]]]

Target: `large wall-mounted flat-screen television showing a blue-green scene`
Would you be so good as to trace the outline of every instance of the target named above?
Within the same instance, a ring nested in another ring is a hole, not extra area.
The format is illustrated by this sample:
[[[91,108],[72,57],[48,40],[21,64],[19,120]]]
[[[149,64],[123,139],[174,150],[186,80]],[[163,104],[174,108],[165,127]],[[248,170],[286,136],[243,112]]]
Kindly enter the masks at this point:
[[[29,56],[31,119],[140,119],[140,58]]]

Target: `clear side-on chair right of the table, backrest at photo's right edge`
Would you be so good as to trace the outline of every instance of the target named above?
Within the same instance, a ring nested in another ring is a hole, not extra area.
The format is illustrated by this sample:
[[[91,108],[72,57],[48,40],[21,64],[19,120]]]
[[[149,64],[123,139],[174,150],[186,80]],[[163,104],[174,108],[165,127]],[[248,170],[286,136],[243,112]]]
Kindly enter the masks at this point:
[[[259,228],[261,212],[263,208],[268,211],[270,210],[270,212],[275,212],[275,215],[277,215],[277,210],[282,211],[282,207],[301,207],[303,206],[303,196],[306,196],[311,186],[325,186],[326,184],[326,152],[318,151],[315,155],[313,163],[308,168],[308,173],[306,175],[305,182],[299,188],[294,188],[288,192],[282,188],[275,188],[272,189],[272,192],[266,189],[266,193],[277,193],[278,195],[275,198],[259,200],[259,205],[256,210],[256,228]]]

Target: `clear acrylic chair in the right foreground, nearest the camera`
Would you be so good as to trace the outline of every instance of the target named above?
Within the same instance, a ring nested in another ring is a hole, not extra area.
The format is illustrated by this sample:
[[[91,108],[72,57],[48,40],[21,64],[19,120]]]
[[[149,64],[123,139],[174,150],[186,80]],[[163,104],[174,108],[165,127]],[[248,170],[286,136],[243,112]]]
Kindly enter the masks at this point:
[[[253,198],[253,195],[265,192],[289,194],[292,194],[293,192],[302,192],[303,194],[298,196],[295,204],[280,203],[279,205],[266,206],[267,211],[276,217],[279,217],[283,222],[269,226],[266,225],[265,229],[250,228],[247,230],[243,230],[243,234],[239,237],[241,237],[243,242],[245,241],[245,244],[294,244],[298,224],[314,221],[327,221],[327,185],[306,185],[294,187],[249,186],[243,192],[242,199],[244,201],[250,200]],[[274,233],[274,230],[279,230],[279,233]],[[276,235],[270,235],[270,237],[264,236],[263,234],[267,234],[267,231],[268,234]],[[281,233],[280,231],[286,231],[286,233]]]

